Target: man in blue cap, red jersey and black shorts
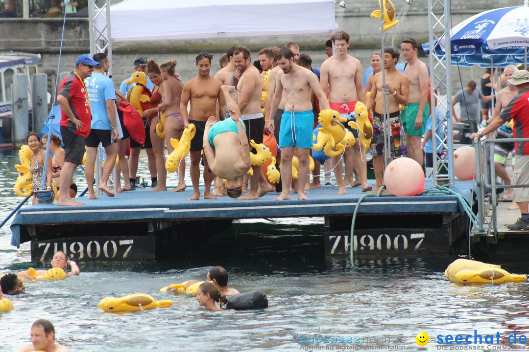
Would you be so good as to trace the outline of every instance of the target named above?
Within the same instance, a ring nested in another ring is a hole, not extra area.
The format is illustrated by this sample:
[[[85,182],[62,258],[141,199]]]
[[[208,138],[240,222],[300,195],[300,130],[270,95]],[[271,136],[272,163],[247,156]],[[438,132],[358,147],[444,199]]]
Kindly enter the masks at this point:
[[[61,170],[60,188],[68,190],[77,165],[83,163],[85,138],[90,134],[92,112],[85,86],[85,78],[92,76],[94,61],[88,54],[80,55],[75,62],[75,71],[70,72],[59,86],[57,102],[61,107],[61,137],[65,144],[65,165]],[[85,205],[70,197],[69,192],[60,192],[57,205]]]

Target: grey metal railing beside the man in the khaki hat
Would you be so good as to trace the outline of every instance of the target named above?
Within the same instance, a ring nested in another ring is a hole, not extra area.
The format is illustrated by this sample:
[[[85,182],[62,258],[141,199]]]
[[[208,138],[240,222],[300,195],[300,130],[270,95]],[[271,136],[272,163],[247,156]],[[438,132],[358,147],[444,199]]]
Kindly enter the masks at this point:
[[[498,212],[497,212],[497,189],[498,188],[526,188],[529,184],[496,184],[496,170],[494,167],[494,145],[496,143],[513,143],[529,142],[529,138],[487,138],[480,142],[475,138],[474,149],[476,151],[476,175],[478,186],[478,222],[480,229],[485,225],[485,213],[488,211],[485,207],[485,188],[490,189],[490,205],[492,214],[487,230],[487,235],[496,235],[498,233]],[[481,163],[481,160],[484,163]]]

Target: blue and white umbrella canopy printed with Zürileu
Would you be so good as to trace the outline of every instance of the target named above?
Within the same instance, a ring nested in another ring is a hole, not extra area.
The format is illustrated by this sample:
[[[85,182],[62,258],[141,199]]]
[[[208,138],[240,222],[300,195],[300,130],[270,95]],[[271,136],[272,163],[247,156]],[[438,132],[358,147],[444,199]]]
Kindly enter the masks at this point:
[[[482,48],[501,54],[519,53],[509,51],[529,46],[529,1],[522,6],[481,12],[453,27],[450,33],[452,54],[487,53]],[[444,51],[443,39],[440,44]]]

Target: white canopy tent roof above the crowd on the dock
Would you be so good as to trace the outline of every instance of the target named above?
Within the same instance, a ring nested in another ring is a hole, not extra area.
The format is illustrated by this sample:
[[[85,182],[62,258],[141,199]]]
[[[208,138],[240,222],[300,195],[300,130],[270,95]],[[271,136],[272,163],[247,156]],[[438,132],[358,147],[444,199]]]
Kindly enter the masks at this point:
[[[113,42],[329,34],[336,26],[334,0],[124,0],[110,14]]]

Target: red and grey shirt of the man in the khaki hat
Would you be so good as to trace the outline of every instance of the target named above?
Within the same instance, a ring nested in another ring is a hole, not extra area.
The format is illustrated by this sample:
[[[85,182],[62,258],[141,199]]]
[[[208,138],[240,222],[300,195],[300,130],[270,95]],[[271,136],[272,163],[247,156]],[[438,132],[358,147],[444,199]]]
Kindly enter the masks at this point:
[[[513,138],[529,138],[529,88],[514,97],[499,117],[514,120]],[[529,142],[516,142],[514,146],[516,155],[529,155]]]

